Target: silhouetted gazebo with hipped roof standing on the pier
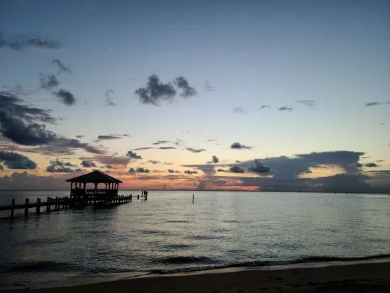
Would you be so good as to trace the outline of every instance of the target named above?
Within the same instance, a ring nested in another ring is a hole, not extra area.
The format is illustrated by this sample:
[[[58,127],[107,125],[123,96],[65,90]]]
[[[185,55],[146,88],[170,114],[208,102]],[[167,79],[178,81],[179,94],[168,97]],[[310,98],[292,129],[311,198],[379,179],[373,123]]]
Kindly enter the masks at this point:
[[[70,182],[71,198],[96,197],[96,195],[115,197],[118,195],[119,184],[123,183],[121,180],[100,171],[94,171],[72,179],[67,179],[67,182]],[[88,183],[94,184],[94,189],[86,189]],[[99,183],[104,183],[106,188],[98,189]]]

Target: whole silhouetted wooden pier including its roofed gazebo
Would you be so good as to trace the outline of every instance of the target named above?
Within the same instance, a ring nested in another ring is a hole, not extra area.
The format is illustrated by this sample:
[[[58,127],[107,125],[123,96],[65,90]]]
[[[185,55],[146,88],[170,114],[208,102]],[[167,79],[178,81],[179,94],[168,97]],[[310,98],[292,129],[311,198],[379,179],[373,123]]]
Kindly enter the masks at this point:
[[[147,192],[133,196],[118,195],[118,187],[121,180],[106,175],[100,171],[94,171],[79,177],[67,179],[71,182],[69,197],[47,197],[46,201],[38,197],[35,202],[25,199],[23,204],[16,204],[12,199],[11,205],[0,206],[0,211],[10,211],[10,218],[14,218],[16,209],[24,209],[24,216],[27,218],[30,209],[35,209],[35,214],[49,213],[50,211],[60,211],[60,209],[80,209],[86,206],[93,206],[94,209],[100,207],[128,204],[133,198],[147,201]],[[94,189],[87,189],[87,184],[94,184]],[[100,183],[105,184],[105,189],[98,189]],[[73,186],[74,184],[74,186]],[[41,208],[45,207],[45,211]]]

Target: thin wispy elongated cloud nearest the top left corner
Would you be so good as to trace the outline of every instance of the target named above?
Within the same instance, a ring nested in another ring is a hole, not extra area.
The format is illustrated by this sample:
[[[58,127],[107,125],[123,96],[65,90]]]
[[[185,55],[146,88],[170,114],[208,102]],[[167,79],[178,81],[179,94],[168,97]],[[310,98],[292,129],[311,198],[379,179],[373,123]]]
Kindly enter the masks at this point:
[[[6,33],[0,32],[0,48],[9,48],[12,50],[23,50],[26,48],[40,49],[60,49],[62,43],[50,38],[43,38],[38,35],[14,35],[11,38],[5,38]]]

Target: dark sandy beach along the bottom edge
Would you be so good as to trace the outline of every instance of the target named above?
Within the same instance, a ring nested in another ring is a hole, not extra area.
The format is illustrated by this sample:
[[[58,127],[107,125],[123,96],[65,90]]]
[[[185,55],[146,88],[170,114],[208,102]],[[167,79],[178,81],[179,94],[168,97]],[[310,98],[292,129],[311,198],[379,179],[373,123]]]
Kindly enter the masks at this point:
[[[283,270],[204,272],[133,278],[116,282],[4,292],[389,292],[390,262]]]

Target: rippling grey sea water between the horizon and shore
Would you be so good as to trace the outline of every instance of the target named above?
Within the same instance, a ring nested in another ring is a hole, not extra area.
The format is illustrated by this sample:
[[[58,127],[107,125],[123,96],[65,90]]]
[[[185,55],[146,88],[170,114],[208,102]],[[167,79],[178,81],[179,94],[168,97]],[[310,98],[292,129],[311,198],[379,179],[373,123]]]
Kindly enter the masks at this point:
[[[140,194],[121,192],[130,193]],[[67,195],[0,191],[0,204]],[[147,201],[109,209],[27,220],[23,210],[16,214],[13,221],[0,219],[0,289],[390,259],[390,197],[384,194],[150,191]],[[9,211],[0,212],[5,216]]]

